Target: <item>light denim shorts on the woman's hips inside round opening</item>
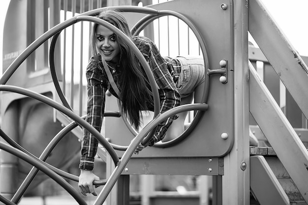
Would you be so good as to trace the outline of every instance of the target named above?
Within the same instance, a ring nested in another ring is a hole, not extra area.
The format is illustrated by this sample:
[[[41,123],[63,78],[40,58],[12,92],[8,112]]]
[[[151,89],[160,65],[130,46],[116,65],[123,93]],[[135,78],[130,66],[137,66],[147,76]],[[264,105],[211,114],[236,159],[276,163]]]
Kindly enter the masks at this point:
[[[176,59],[182,67],[176,87],[181,97],[187,97],[205,81],[204,60],[200,56],[178,56]]]

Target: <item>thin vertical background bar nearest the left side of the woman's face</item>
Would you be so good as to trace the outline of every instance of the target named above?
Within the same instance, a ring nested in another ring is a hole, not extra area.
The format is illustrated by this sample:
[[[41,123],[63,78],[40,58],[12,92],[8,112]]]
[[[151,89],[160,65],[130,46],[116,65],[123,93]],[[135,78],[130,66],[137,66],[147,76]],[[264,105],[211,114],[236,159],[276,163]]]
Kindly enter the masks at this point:
[[[84,12],[85,1],[80,0],[80,13]],[[82,98],[83,98],[83,84],[82,84],[82,76],[83,76],[83,30],[84,23],[80,22],[80,72],[79,72],[79,116],[82,116]]]

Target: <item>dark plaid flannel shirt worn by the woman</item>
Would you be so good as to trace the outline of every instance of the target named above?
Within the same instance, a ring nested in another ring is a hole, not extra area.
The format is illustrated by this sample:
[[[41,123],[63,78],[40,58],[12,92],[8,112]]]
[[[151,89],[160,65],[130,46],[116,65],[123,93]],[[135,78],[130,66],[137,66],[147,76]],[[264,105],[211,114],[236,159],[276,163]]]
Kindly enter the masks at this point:
[[[164,113],[171,108],[179,106],[180,94],[177,91],[175,81],[181,71],[180,62],[178,62],[177,60],[172,60],[170,58],[162,58],[155,44],[149,38],[143,36],[135,36],[133,37],[133,41],[149,63],[150,68],[153,72],[160,98],[160,113]],[[97,66],[97,64],[99,66]],[[105,109],[105,92],[107,91],[107,89],[109,89],[109,91],[118,98],[118,95],[115,93],[114,89],[108,81],[107,74],[102,68],[103,65],[101,60],[97,63],[92,57],[86,71],[88,82],[86,120],[99,132],[101,130]],[[121,69],[122,68],[115,67],[116,72],[113,73],[113,69],[110,68],[113,79],[120,91]],[[153,111],[154,104],[151,103],[148,107],[150,110]],[[153,146],[156,142],[164,138],[168,127],[174,119],[176,119],[176,116],[169,117],[157,126],[153,138],[148,143],[149,146]],[[87,129],[84,129],[81,159],[79,165],[80,169],[93,169],[94,156],[97,151],[97,146],[97,139]]]

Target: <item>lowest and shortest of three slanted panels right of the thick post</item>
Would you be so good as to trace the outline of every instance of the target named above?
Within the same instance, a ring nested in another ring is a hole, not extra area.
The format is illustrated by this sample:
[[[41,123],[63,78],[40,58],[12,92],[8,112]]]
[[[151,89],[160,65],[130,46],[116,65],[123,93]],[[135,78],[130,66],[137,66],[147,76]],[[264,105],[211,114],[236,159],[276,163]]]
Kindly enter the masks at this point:
[[[289,205],[289,199],[263,156],[250,157],[250,189],[260,205]]]

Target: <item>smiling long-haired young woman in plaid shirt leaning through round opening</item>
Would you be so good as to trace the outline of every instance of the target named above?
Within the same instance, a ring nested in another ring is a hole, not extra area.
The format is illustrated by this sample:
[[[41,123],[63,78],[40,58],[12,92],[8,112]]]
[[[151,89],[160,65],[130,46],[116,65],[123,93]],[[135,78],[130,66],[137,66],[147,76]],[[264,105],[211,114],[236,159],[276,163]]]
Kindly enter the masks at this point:
[[[141,51],[153,72],[160,98],[160,112],[190,103],[192,93],[204,86],[204,61],[202,58],[177,57],[162,58],[155,44],[146,37],[132,36],[123,15],[113,9],[105,8],[97,16],[117,27],[129,36]],[[91,34],[93,57],[87,67],[88,106],[86,120],[98,131],[101,129],[105,92],[107,89],[120,99],[120,110],[131,124],[140,126],[141,111],[153,111],[154,103],[151,87],[143,67],[123,39],[112,30],[94,24]],[[195,96],[199,102],[201,96]],[[168,130],[168,140],[178,137],[184,131],[186,113],[169,117],[161,122],[147,146],[161,141]],[[98,141],[84,129],[79,168],[80,192],[96,196],[93,180],[99,178],[92,173],[94,156]],[[167,138],[167,137],[166,137]],[[144,146],[139,145],[136,151]]]

